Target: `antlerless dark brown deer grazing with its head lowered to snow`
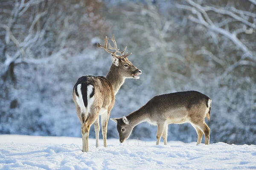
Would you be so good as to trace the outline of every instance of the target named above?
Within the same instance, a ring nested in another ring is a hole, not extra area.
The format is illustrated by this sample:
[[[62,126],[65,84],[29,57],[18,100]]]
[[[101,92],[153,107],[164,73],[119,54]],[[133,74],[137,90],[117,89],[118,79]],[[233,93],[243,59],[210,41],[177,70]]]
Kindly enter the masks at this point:
[[[157,143],[163,136],[167,144],[168,124],[191,123],[198,134],[197,145],[201,143],[204,133],[205,144],[209,144],[210,128],[204,122],[205,117],[210,119],[212,100],[198,91],[182,91],[177,93],[154,96],[139,110],[122,118],[111,119],[117,123],[120,143],[131,134],[134,126],[141,122],[157,125]]]

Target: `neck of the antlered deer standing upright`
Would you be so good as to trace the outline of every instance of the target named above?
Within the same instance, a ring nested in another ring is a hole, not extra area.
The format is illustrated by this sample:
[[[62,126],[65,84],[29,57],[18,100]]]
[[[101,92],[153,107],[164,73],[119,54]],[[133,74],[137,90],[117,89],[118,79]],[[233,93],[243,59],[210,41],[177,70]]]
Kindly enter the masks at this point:
[[[111,82],[116,95],[122,84],[125,82],[125,78],[119,74],[119,70],[114,64],[111,65],[106,78]]]

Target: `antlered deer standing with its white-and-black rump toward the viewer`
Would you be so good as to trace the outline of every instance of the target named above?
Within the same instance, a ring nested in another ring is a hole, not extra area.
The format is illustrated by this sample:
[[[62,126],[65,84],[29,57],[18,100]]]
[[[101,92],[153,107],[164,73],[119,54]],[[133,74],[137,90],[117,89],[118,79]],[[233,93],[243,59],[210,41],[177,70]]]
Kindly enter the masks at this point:
[[[108,44],[108,40],[114,43],[114,47]],[[82,76],[73,88],[73,101],[76,104],[76,114],[81,122],[83,152],[88,152],[88,137],[90,126],[94,123],[96,134],[96,147],[99,146],[99,115],[101,115],[102,135],[104,147],[107,147],[107,125],[110,111],[115,103],[115,95],[124,83],[125,78],[139,79],[141,71],[129,60],[131,54],[119,51],[113,38],[105,37],[105,44],[98,47],[104,48],[111,54],[111,68],[106,77]],[[115,50],[115,51],[111,51]],[[117,55],[119,53],[121,55]]]

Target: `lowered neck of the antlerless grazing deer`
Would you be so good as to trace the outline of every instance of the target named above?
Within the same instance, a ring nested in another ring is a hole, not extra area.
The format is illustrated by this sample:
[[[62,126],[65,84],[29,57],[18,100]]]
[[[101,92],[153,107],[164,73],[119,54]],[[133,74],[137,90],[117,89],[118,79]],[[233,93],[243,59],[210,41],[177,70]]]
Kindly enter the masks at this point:
[[[148,120],[148,113],[145,111],[145,108],[142,107],[137,111],[134,111],[133,113],[130,113],[128,116],[126,116],[129,124],[131,124],[133,127],[140,124],[141,122],[145,122]]]

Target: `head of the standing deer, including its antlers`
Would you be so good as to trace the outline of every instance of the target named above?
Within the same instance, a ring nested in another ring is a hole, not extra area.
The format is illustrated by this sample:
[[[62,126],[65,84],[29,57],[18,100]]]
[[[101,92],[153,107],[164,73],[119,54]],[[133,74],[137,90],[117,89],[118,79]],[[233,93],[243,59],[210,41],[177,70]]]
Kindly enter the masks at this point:
[[[139,75],[141,74],[141,70],[136,68],[128,60],[127,57],[132,53],[129,53],[129,54],[128,52],[125,53],[125,50],[127,47],[125,47],[123,51],[119,51],[119,49],[116,46],[116,40],[114,39],[114,35],[113,35],[113,38],[108,38],[107,36],[105,36],[104,40],[105,40],[104,45],[101,45],[100,43],[98,43],[97,46],[104,48],[105,51],[111,54],[112,62],[114,66],[114,67],[111,67],[111,69],[113,69],[113,72],[118,71],[118,74],[120,74],[123,78],[140,79]],[[111,40],[113,42],[114,44],[113,47],[111,46],[110,43],[108,43],[108,40]],[[115,50],[115,51],[111,51],[111,50]],[[117,55],[116,53],[119,53],[121,55]]]

